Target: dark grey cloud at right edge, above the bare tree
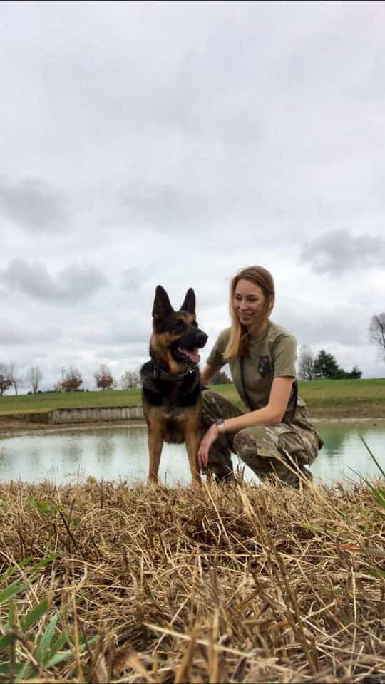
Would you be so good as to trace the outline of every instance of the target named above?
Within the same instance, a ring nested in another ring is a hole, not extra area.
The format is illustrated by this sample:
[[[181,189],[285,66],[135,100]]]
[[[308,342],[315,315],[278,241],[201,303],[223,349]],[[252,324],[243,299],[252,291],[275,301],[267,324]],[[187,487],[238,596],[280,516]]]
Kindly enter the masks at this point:
[[[385,241],[379,236],[354,237],[347,230],[335,230],[314,240],[302,249],[301,259],[315,273],[340,274],[350,269],[384,266]]]

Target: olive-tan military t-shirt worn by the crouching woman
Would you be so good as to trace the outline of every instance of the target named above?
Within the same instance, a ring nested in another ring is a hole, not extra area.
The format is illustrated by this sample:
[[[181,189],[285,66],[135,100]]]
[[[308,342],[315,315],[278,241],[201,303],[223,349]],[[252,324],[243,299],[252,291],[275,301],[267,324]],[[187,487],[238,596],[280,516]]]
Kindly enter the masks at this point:
[[[230,338],[230,328],[226,328],[217,338],[207,365],[219,371],[225,363],[230,366],[232,381],[242,401],[248,406],[247,398],[242,388],[240,373],[240,358],[226,359],[223,352]],[[243,358],[243,378],[247,396],[250,398],[252,408],[263,408],[269,403],[270,390],[274,378],[296,378],[295,358],[297,354],[297,341],[292,333],[282,326],[269,321],[260,338],[250,338],[247,356]],[[308,423],[307,407],[302,399],[297,399],[297,410],[293,416],[294,388],[284,414],[284,422],[296,423],[301,427],[314,430]],[[315,432],[315,430],[314,430]]]

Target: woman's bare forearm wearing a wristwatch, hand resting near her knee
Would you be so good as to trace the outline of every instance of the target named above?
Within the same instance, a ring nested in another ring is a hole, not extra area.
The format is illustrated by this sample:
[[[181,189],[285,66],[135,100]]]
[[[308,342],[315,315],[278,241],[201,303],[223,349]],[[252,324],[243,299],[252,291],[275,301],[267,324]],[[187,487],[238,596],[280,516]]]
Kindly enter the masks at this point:
[[[200,442],[198,450],[200,467],[207,465],[210,447],[220,432],[238,432],[238,430],[254,427],[254,425],[277,425],[281,423],[287,410],[293,381],[294,378],[274,378],[267,406],[244,415],[238,415],[236,418],[226,418],[220,427],[213,423]]]

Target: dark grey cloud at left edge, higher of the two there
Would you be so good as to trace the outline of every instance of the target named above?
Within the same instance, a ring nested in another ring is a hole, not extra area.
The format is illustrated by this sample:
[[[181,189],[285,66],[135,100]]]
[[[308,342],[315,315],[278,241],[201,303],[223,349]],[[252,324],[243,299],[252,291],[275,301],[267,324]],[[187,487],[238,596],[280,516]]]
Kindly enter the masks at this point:
[[[0,208],[11,221],[31,232],[51,232],[68,225],[63,199],[38,178],[11,184],[0,180]]]

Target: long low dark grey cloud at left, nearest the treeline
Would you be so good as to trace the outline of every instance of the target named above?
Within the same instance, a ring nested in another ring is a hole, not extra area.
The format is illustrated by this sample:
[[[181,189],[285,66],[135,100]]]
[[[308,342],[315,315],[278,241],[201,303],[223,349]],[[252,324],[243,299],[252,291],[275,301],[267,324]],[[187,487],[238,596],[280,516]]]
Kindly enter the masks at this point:
[[[41,263],[29,264],[24,259],[13,259],[0,271],[0,278],[14,291],[23,292],[32,299],[73,304],[87,299],[106,285],[106,277],[96,266],[67,266],[52,276]]]

